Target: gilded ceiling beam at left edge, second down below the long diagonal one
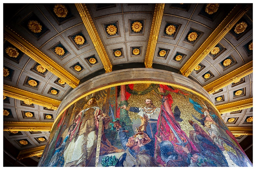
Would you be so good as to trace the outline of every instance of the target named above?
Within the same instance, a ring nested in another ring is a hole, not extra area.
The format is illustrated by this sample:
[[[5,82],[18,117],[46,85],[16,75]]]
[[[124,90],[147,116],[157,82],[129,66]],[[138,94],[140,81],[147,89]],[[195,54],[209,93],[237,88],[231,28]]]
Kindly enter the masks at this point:
[[[30,91],[22,90],[20,88],[10,86],[7,84],[3,84],[3,95],[31,102],[34,104],[38,104],[39,106],[44,106],[48,108],[52,108],[54,110],[57,110],[57,108],[60,105],[60,100],[52,99],[43,95],[39,95]]]

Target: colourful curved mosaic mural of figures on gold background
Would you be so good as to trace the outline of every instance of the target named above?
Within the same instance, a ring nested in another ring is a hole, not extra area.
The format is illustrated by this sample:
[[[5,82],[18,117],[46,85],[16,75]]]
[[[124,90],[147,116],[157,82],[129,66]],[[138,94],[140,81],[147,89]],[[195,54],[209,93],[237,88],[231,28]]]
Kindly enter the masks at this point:
[[[177,87],[85,96],[54,123],[38,166],[252,166],[214,106]]]

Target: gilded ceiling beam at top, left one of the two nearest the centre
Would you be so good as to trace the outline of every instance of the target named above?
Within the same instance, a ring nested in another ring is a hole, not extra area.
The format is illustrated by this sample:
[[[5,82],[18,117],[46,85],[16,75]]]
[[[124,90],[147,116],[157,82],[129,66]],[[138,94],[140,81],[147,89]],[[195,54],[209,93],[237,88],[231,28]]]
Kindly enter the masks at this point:
[[[105,47],[103,46],[103,43],[101,41],[101,38],[99,37],[99,33],[97,32],[97,29],[94,25],[94,22],[91,18],[91,15],[86,7],[85,4],[75,4],[76,8],[81,16],[81,19],[83,20],[84,26],[89,33],[89,36],[91,38],[91,41],[93,41],[93,45],[99,55],[99,58],[101,59],[101,62],[104,66],[104,69],[106,72],[112,71],[112,64],[110,62],[109,56],[106,52]]]

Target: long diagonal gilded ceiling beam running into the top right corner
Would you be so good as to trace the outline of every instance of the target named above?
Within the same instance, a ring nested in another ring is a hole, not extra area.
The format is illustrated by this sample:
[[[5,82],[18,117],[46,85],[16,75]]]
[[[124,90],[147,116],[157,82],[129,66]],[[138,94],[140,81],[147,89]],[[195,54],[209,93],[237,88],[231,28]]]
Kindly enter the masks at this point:
[[[180,68],[182,75],[188,77],[196,66],[211,52],[219,41],[234,27],[242,16],[251,8],[251,4],[237,4],[226,18],[212,31],[187,62]]]

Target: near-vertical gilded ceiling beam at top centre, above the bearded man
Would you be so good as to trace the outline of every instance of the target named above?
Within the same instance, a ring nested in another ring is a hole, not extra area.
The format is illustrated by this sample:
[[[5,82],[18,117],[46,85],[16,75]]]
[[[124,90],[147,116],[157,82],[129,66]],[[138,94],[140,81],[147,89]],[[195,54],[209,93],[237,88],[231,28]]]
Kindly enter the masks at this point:
[[[152,68],[155,47],[157,46],[157,39],[160,31],[160,26],[163,18],[163,11],[165,8],[165,4],[156,4],[154,15],[150,28],[150,35],[148,38],[147,51],[145,55],[145,67]]]

